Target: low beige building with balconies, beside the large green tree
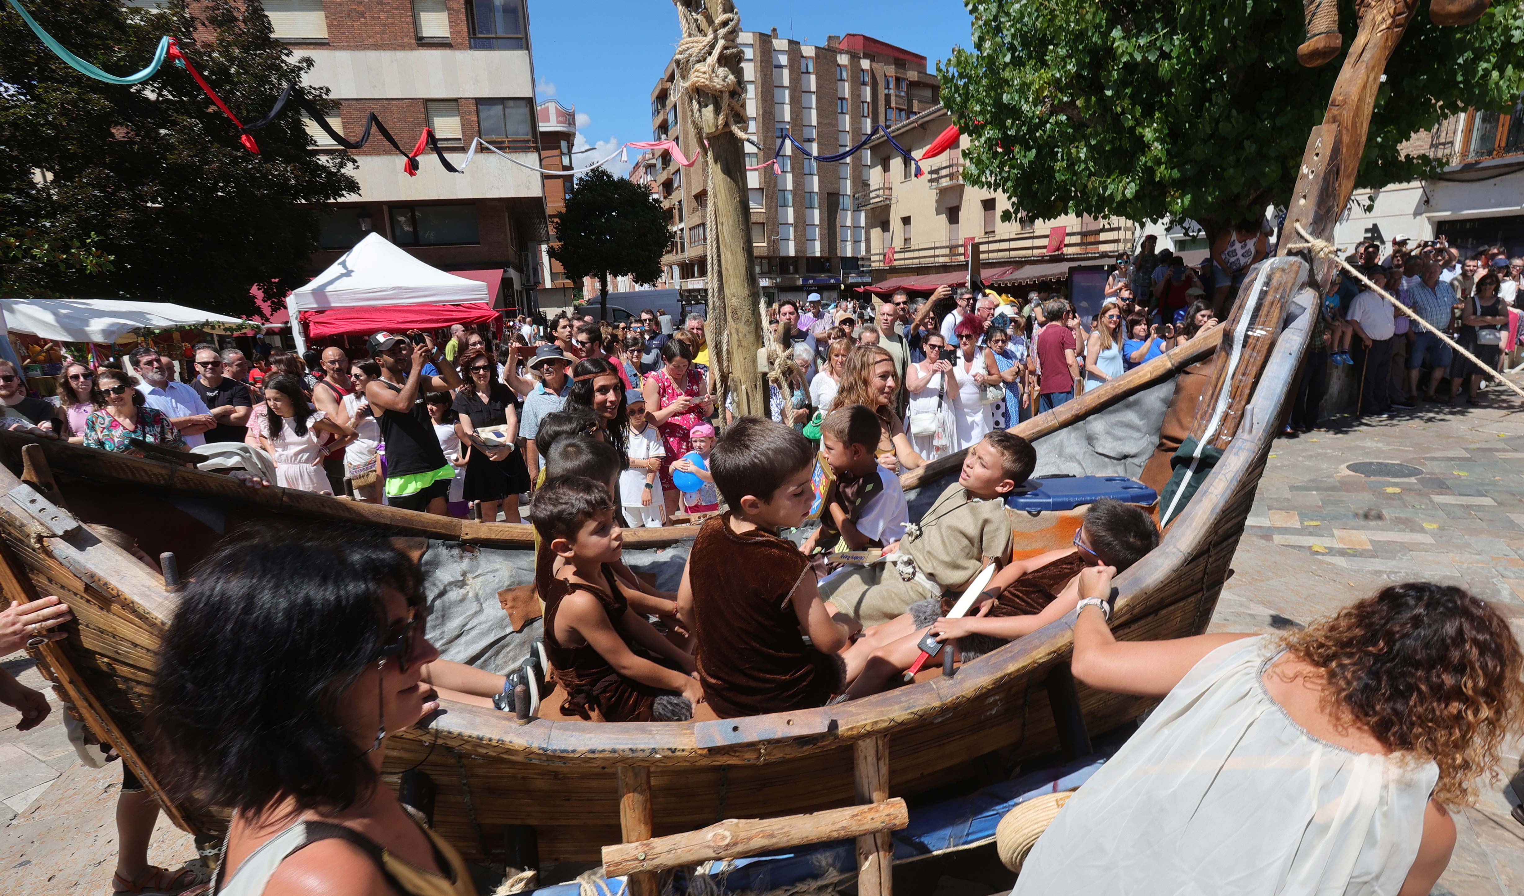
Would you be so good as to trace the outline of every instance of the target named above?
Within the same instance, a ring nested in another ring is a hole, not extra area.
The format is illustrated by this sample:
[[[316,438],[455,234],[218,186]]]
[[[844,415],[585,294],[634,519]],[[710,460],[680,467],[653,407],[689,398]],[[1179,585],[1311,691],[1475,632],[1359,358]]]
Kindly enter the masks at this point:
[[[890,128],[895,140],[920,158],[952,123],[942,108],[931,108]],[[969,139],[922,163],[925,177],[879,134],[867,146],[870,165],[853,207],[866,216],[864,262],[875,285],[962,282],[968,271],[968,244],[977,241],[985,280],[998,286],[1049,283],[1081,294],[1117,254],[1131,253],[1137,229],[1131,221],[1065,215],[1033,219],[1000,194],[963,180],[963,149]],[[1004,221],[1004,212],[1013,212]],[[951,282],[943,279],[940,282]],[[1073,293],[1071,293],[1073,294]]]

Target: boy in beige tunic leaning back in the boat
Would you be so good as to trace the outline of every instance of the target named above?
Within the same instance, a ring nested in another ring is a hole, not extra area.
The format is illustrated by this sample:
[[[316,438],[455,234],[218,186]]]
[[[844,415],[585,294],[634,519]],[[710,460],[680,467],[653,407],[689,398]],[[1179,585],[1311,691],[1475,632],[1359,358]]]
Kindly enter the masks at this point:
[[[916,600],[962,588],[991,559],[1010,559],[1006,495],[1027,482],[1036,463],[1036,451],[1021,436],[989,433],[968,450],[959,480],[920,523],[884,549],[884,561],[832,576],[821,597],[863,625],[882,625]]]

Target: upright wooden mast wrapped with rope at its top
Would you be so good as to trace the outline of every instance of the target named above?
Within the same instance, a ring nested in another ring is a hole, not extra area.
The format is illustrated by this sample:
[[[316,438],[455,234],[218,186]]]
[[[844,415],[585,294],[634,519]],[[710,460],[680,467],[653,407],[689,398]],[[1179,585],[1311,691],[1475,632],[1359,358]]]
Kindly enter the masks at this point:
[[[732,0],[678,0],[678,18],[684,37],[715,34],[716,21],[736,15]],[[741,49],[732,47],[721,62],[745,84],[741,73]],[[692,66],[680,59],[678,78],[687,82]],[[709,181],[709,344],[721,395],[736,396],[738,414],[767,416],[768,390],[757,369],[762,347],[762,312],[756,259],[751,254],[751,204],[747,200],[745,152],[730,130],[725,101],[712,93],[693,90],[698,120],[693,120],[696,148],[703,158],[703,177]],[[739,94],[736,94],[739,99]],[[745,122],[741,122],[742,130]],[[693,175],[698,175],[693,171]]]

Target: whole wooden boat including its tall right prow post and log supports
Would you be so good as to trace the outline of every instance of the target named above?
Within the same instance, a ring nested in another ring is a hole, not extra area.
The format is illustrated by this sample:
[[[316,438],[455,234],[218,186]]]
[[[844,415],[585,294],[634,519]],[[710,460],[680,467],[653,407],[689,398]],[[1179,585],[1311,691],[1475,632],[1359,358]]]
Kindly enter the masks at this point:
[[[718,8],[733,12],[727,0]],[[684,11],[698,15],[680,6]],[[1301,226],[1314,238],[1330,238],[1353,189],[1381,70],[1411,11],[1411,0],[1362,8],[1359,35],[1327,117],[1308,140],[1283,233]],[[684,27],[689,24],[684,20]],[[707,128],[721,155],[735,157],[719,165],[733,174],[739,171],[739,143],[725,145],[722,131]],[[718,177],[716,184],[725,186],[725,172]],[[730,212],[739,222],[728,224],[742,233],[739,200],[727,204]],[[1122,638],[1201,632],[1231,573],[1228,564],[1308,343],[1306,311],[1330,280],[1326,261],[1294,258],[1291,242],[1282,239],[1280,258],[1263,262],[1245,282],[1239,311],[1210,337],[1015,428],[1035,440],[1084,425],[1178,378],[1190,363],[1218,354],[1199,407],[1177,407],[1172,414],[1193,416],[1190,436],[1221,450],[1221,457],[1184,512],[1170,521],[1160,547],[1117,579],[1113,628]],[[725,245],[725,251],[735,248]],[[748,259],[722,258],[732,270],[750,270]],[[747,302],[753,302],[754,280],[751,286]],[[730,314],[728,299],[722,311]],[[1183,395],[1177,392],[1175,401],[1184,401]],[[524,550],[532,542],[526,527],[424,517],[283,489],[251,491],[174,462],[104,454],[17,433],[0,433],[0,491],[6,492],[0,497],[0,588],[20,600],[61,594],[73,606],[78,622],[67,626],[67,640],[43,645],[37,654],[90,727],[155,791],[158,779],[143,721],[152,696],[154,654],[174,614],[175,591],[126,552],[82,527],[81,517],[125,529],[149,552],[175,550],[186,565],[206,552],[218,532],[195,518],[187,521],[183,512],[166,510],[168,497],[212,501],[224,523],[299,517],[480,549]],[[907,474],[911,503],[920,491],[937,491],[956,468],[952,457]],[[1020,529],[1018,546],[1038,552],[1065,546],[1077,515],[1017,520],[1013,526]],[[175,538],[171,546],[163,544],[168,533]],[[690,535],[629,532],[626,547],[671,544]],[[422,770],[437,786],[436,829],[468,856],[498,861],[504,853],[523,855],[530,838],[538,840],[541,859],[596,861],[600,844],[645,843],[652,835],[689,832],[727,817],[788,815],[788,824],[799,832],[779,834],[776,827],[783,824],[777,823],[753,843],[797,846],[826,837],[818,818],[802,820],[799,814],[873,803],[864,809],[881,808],[885,818],[867,823],[855,817],[855,824],[832,830],[860,835],[858,891],[882,896],[890,890],[887,830],[904,818],[904,805],[890,795],[914,797],[991,763],[1009,770],[1061,748],[1084,751],[1090,731],[1125,725],[1146,709],[1135,698],[1074,686],[1067,672],[1071,623],[1073,617],[1055,622],[951,678],[931,677],[870,698],[794,713],[666,724],[518,724],[504,713],[448,706],[430,730],[393,741],[386,770]],[[168,800],[166,808],[178,824],[200,835],[215,837],[219,827],[215,817],[190,815]],[[684,853],[689,861],[748,855],[732,830],[739,827],[666,837],[661,847],[671,855],[668,847],[678,840],[700,843]],[[754,824],[747,830],[753,837]],[[628,846],[619,850],[619,867],[634,873],[631,888],[637,894],[655,893],[651,872],[681,864],[657,862],[651,853],[660,850],[654,847],[637,847],[632,856],[626,855],[632,852]],[[613,870],[614,862],[607,867]]]

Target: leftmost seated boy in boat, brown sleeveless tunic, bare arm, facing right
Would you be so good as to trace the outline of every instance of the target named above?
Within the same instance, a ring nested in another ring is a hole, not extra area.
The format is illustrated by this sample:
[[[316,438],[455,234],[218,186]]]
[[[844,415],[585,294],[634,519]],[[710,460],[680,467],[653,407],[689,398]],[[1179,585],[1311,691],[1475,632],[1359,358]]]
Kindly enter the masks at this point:
[[[610,722],[693,718],[693,657],[631,608],[614,579],[623,550],[608,482],[555,477],[535,494],[535,582],[546,600],[546,655],[564,715]],[[559,570],[555,561],[559,559]],[[654,660],[651,658],[654,657]]]

